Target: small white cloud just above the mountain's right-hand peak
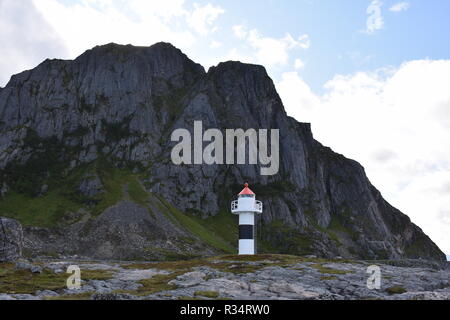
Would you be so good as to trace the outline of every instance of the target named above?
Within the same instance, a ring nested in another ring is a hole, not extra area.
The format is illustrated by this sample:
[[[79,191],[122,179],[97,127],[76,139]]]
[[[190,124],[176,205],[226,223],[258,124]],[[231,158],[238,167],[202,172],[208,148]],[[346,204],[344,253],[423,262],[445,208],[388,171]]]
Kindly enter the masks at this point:
[[[257,29],[247,30],[241,25],[234,26],[233,32],[254,50],[254,62],[268,68],[285,66],[289,61],[289,51],[296,48],[308,49],[311,45],[306,34],[298,39],[294,39],[290,33],[286,33],[283,38],[272,38],[263,36]]]

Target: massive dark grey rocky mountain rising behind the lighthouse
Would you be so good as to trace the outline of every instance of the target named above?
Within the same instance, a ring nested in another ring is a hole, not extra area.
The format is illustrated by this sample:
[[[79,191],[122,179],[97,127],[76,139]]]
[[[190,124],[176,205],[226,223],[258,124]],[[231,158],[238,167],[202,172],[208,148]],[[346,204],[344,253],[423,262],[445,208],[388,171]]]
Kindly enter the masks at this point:
[[[174,165],[177,128],[280,130],[280,169]],[[287,116],[264,67],[205,72],[167,43],[46,60],[0,90],[0,216],[25,255],[177,259],[234,252],[230,201],[249,182],[261,252],[444,260],[364,168]]]

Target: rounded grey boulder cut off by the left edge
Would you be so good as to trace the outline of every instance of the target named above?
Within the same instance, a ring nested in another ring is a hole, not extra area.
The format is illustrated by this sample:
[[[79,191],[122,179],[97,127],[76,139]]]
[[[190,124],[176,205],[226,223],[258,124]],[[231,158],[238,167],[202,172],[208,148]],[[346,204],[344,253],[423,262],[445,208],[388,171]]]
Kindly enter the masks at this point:
[[[0,262],[11,262],[22,255],[23,232],[20,223],[0,217]]]

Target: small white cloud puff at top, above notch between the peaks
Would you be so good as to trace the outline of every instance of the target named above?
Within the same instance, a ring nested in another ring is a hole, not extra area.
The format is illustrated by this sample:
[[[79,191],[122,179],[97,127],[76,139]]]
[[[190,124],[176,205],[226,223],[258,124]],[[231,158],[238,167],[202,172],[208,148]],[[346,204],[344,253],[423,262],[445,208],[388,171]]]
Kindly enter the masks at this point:
[[[194,7],[194,11],[187,19],[189,26],[201,35],[207,35],[216,31],[217,27],[214,27],[213,23],[225,10],[210,3],[205,6],[195,3]]]

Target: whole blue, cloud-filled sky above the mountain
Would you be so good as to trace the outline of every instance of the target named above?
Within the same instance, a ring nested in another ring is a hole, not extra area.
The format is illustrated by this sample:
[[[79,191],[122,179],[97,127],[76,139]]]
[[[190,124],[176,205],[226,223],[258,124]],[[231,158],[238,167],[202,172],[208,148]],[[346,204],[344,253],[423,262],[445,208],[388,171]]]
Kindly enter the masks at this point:
[[[109,42],[262,64],[287,113],[450,254],[449,15],[448,0],[0,0],[0,86]]]

